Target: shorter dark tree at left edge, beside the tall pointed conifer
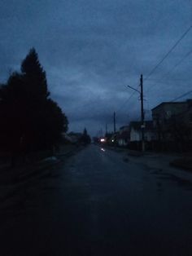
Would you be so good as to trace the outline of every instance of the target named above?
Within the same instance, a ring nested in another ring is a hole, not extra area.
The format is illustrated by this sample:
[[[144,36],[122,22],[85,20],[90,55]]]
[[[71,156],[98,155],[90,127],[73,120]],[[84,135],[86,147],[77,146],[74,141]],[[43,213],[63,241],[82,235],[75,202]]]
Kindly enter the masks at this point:
[[[26,117],[24,83],[19,73],[12,73],[7,84],[1,86],[0,98],[2,147],[18,151]]]

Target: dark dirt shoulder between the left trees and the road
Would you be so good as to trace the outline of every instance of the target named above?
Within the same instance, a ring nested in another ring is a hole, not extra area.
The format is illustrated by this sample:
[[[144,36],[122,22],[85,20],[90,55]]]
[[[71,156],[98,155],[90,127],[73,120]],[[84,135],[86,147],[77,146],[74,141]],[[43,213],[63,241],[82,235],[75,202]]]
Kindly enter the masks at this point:
[[[24,201],[28,190],[33,190],[36,183],[55,175],[55,171],[68,157],[76,154],[84,147],[66,145],[53,157],[47,157],[34,163],[26,163],[23,166],[0,168],[0,212],[11,205]]]

